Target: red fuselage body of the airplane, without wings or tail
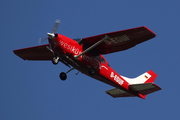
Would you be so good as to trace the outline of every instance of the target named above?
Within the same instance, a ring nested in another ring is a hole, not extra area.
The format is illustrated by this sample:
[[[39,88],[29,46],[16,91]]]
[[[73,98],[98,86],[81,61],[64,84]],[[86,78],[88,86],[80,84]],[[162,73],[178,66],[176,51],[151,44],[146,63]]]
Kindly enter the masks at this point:
[[[49,43],[55,56],[66,56],[64,57],[65,61],[78,71],[116,88],[129,91],[129,83],[109,66],[103,55],[92,50],[80,56],[78,60],[74,58],[74,56],[79,55],[89,47],[88,45],[83,44],[82,41],[79,41],[78,43],[71,38],[56,34],[56,37],[49,40]],[[91,67],[96,69],[96,74],[93,76],[88,73],[88,70]]]

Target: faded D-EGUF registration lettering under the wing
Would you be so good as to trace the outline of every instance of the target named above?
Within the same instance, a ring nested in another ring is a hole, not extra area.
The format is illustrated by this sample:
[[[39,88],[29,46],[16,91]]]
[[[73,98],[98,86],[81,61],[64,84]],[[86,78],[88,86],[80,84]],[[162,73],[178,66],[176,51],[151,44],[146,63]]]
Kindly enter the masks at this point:
[[[121,43],[121,42],[126,42],[130,40],[129,39],[129,36],[127,35],[122,35],[122,36],[118,36],[118,37],[114,37],[114,38],[110,38],[110,39],[107,39],[105,40],[104,42],[107,44],[107,45],[111,45],[111,44],[118,44],[118,43]]]

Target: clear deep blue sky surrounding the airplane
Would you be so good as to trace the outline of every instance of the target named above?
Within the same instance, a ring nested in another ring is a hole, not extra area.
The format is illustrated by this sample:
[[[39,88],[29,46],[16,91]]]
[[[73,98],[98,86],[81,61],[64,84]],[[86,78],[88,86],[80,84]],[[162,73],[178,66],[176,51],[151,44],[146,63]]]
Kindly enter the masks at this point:
[[[109,120],[180,119],[179,0],[6,0],[0,4],[0,119]],[[162,90],[146,100],[112,98],[112,86],[51,61],[24,61],[13,50],[38,45],[51,32],[84,38],[147,26],[157,37],[126,51],[105,55],[120,75],[137,77],[152,69]]]

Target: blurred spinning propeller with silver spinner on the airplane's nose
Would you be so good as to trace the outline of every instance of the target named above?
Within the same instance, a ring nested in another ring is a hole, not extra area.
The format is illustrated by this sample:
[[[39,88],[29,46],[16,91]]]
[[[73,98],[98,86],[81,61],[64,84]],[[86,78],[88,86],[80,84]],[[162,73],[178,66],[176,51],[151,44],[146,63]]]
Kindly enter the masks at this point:
[[[52,33],[47,33],[48,37],[40,38],[40,39],[39,39],[39,44],[43,43],[43,42],[46,41],[48,38],[49,38],[49,39],[53,39],[53,38],[55,37],[55,34],[54,34],[54,33],[56,32],[59,23],[60,23],[60,20],[56,20],[56,21],[55,21],[55,25],[54,25],[54,28],[53,28]]]

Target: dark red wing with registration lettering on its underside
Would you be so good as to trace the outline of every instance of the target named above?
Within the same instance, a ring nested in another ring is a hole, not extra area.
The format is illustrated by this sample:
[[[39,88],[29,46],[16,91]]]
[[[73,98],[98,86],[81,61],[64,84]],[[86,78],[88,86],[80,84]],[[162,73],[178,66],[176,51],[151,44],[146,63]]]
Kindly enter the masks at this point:
[[[156,34],[153,33],[150,29],[143,26],[123,31],[87,37],[83,38],[82,41],[83,43],[91,46],[103,39],[105,35],[107,35],[110,38],[94,48],[100,54],[108,54],[123,51],[156,36]]]

